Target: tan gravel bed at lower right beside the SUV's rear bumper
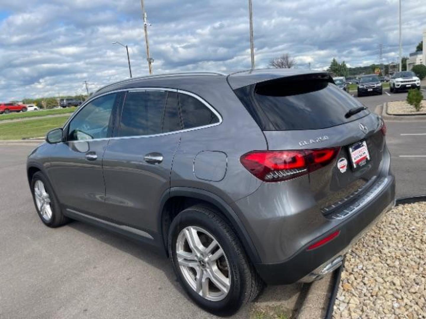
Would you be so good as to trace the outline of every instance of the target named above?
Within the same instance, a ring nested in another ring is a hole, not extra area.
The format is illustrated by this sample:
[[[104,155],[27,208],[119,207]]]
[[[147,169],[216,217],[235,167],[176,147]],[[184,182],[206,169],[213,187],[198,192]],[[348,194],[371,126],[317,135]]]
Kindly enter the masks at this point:
[[[426,202],[398,205],[346,255],[333,317],[426,318]]]

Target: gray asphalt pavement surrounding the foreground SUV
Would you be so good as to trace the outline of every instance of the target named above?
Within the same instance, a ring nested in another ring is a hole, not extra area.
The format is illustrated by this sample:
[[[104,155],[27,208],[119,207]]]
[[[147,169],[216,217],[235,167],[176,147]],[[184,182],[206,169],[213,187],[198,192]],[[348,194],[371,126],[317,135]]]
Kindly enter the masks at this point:
[[[373,110],[405,97],[360,100]],[[426,122],[386,123],[397,196],[424,194]],[[214,318],[186,297],[168,260],[146,247],[81,222],[44,226],[25,174],[34,147],[0,142],[0,318]],[[261,299],[297,299],[298,288],[268,288]],[[235,317],[247,318],[249,308]]]

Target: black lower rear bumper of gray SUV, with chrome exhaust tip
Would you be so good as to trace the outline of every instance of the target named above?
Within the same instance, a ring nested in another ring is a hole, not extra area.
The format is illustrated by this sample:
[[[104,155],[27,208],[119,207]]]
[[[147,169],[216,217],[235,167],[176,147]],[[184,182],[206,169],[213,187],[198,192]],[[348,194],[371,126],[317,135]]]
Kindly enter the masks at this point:
[[[297,253],[284,262],[256,264],[262,279],[271,285],[290,284],[297,281],[311,282],[333,271],[340,264],[339,257],[380,219],[380,216],[394,206],[395,181],[389,180],[380,194],[356,213],[342,219],[342,222],[328,232],[304,245]],[[340,234],[323,246],[308,251],[314,242],[339,230]]]

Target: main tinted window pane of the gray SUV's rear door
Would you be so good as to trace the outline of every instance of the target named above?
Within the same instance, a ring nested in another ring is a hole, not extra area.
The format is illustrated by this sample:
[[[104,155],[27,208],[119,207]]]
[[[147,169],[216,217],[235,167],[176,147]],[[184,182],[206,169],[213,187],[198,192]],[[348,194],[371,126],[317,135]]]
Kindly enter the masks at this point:
[[[118,136],[161,133],[161,120],[166,104],[165,91],[128,92],[121,112]]]

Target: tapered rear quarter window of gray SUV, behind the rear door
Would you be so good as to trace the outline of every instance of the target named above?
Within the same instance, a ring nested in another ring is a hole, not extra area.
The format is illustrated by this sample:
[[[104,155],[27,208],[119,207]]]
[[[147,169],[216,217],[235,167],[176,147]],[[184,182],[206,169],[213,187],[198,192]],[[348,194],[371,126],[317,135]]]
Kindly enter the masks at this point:
[[[179,93],[179,106],[184,129],[219,122],[219,118],[204,103],[188,94]]]

